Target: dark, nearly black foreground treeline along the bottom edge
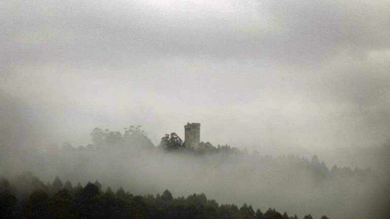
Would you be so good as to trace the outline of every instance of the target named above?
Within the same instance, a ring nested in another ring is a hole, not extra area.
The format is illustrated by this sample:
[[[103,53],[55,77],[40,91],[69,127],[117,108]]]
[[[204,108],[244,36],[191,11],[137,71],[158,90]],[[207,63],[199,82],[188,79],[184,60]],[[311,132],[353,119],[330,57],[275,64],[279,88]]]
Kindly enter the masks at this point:
[[[84,187],[80,183],[73,186],[70,181],[63,183],[58,176],[52,183],[44,184],[30,172],[19,176],[14,184],[0,179],[0,216],[11,219],[298,219],[296,215],[280,214],[272,208],[263,213],[247,204],[241,207],[219,205],[203,193],[173,198],[170,191],[165,190],[161,195],[140,196],[122,187],[114,193],[110,187],[103,191],[98,181],[88,182]],[[312,219],[312,216],[305,215],[303,219]]]

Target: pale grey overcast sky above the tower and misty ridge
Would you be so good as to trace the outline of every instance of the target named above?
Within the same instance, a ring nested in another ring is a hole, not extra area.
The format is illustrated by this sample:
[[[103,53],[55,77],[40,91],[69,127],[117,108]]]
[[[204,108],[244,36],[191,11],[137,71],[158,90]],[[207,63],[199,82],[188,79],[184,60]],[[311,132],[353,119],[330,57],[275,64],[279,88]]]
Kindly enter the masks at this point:
[[[2,130],[39,130],[29,132],[40,144],[85,145],[96,126],[133,124],[158,144],[173,131],[184,140],[187,122],[201,123],[204,141],[249,148],[390,137],[388,0],[12,0],[0,9]]]

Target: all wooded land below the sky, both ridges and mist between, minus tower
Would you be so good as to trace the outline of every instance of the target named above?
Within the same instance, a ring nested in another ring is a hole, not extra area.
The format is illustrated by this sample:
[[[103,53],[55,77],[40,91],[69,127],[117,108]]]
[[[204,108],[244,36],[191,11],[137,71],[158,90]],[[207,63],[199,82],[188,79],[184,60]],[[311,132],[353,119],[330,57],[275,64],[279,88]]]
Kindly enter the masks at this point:
[[[50,144],[19,156],[23,166],[12,155],[0,168],[2,214],[11,218],[365,218],[383,215],[390,191],[370,168],[209,142],[194,149],[176,133],[155,146],[139,126],[95,128],[90,144]],[[68,180],[47,182],[55,176]]]

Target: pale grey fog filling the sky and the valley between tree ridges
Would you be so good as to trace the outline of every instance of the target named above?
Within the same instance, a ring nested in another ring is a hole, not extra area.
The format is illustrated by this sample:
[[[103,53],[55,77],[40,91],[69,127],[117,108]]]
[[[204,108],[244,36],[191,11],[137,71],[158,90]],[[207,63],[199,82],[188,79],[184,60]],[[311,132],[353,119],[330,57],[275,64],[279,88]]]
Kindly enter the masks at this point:
[[[390,176],[388,1],[15,0],[0,8],[0,174],[203,192],[301,216],[340,218],[387,203],[377,194]],[[142,125],[157,146],[165,133],[184,140],[187,122],[202,124],[202,141],[249,155],[47,151],[86,146],[95,127],[129,125]],[[259,167],[254,150],[271,163]],[[277,159],[314,154],[329,169],[371,168],[376,177],[337,190],[351,179],[319,186]],[[280,182],[287,173],[293,179]]]

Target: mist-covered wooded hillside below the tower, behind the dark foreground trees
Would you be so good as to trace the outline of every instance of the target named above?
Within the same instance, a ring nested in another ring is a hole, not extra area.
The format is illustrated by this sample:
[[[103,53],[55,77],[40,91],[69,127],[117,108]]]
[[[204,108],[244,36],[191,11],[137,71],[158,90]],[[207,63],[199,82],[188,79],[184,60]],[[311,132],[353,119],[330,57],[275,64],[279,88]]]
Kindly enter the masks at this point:
[[[30,187],[35,187],[21,184],[24,180],[17,175],[31,171],[45,182],[57,175],[81,185],[98,179],[113,190],[123,187],[138,196],[168,188],[179,197],[204,193],[219,203],[248,203],[253,209],[262,210],[272,207],[298,217],[311,214],[315,218],[366,218],[383,215],[387,209],[388,198],[384,194],[390,190],[386,176],[364,167],[328,165],[315,155],[310,159],[297,155],[273,157],[209,142],[201,142],[193,149],[184,147],[176,133],[164,135],[155,146],[136,126],[126,128],[124,133],[95,128],[91,138],[91,144],[86,146],[51,144],[26,157],[11,159],[14,154],[3,154],[4,168],[0,168],[0,173],[15,187],[27,189],[25,196],[32,192]],[[29,182],[36,184],[39,180]],[[56,197],[50,188],[57,183],[38,184],[39,189],[48,193],[48,200]],[[154,198],[157,200],[157,196]],[[145,197],[142,200],[154,205]],[[215,208],[218,215],[222,214],[220,208]],[[231,214],[235,214],[236,208],[232,209]]]

